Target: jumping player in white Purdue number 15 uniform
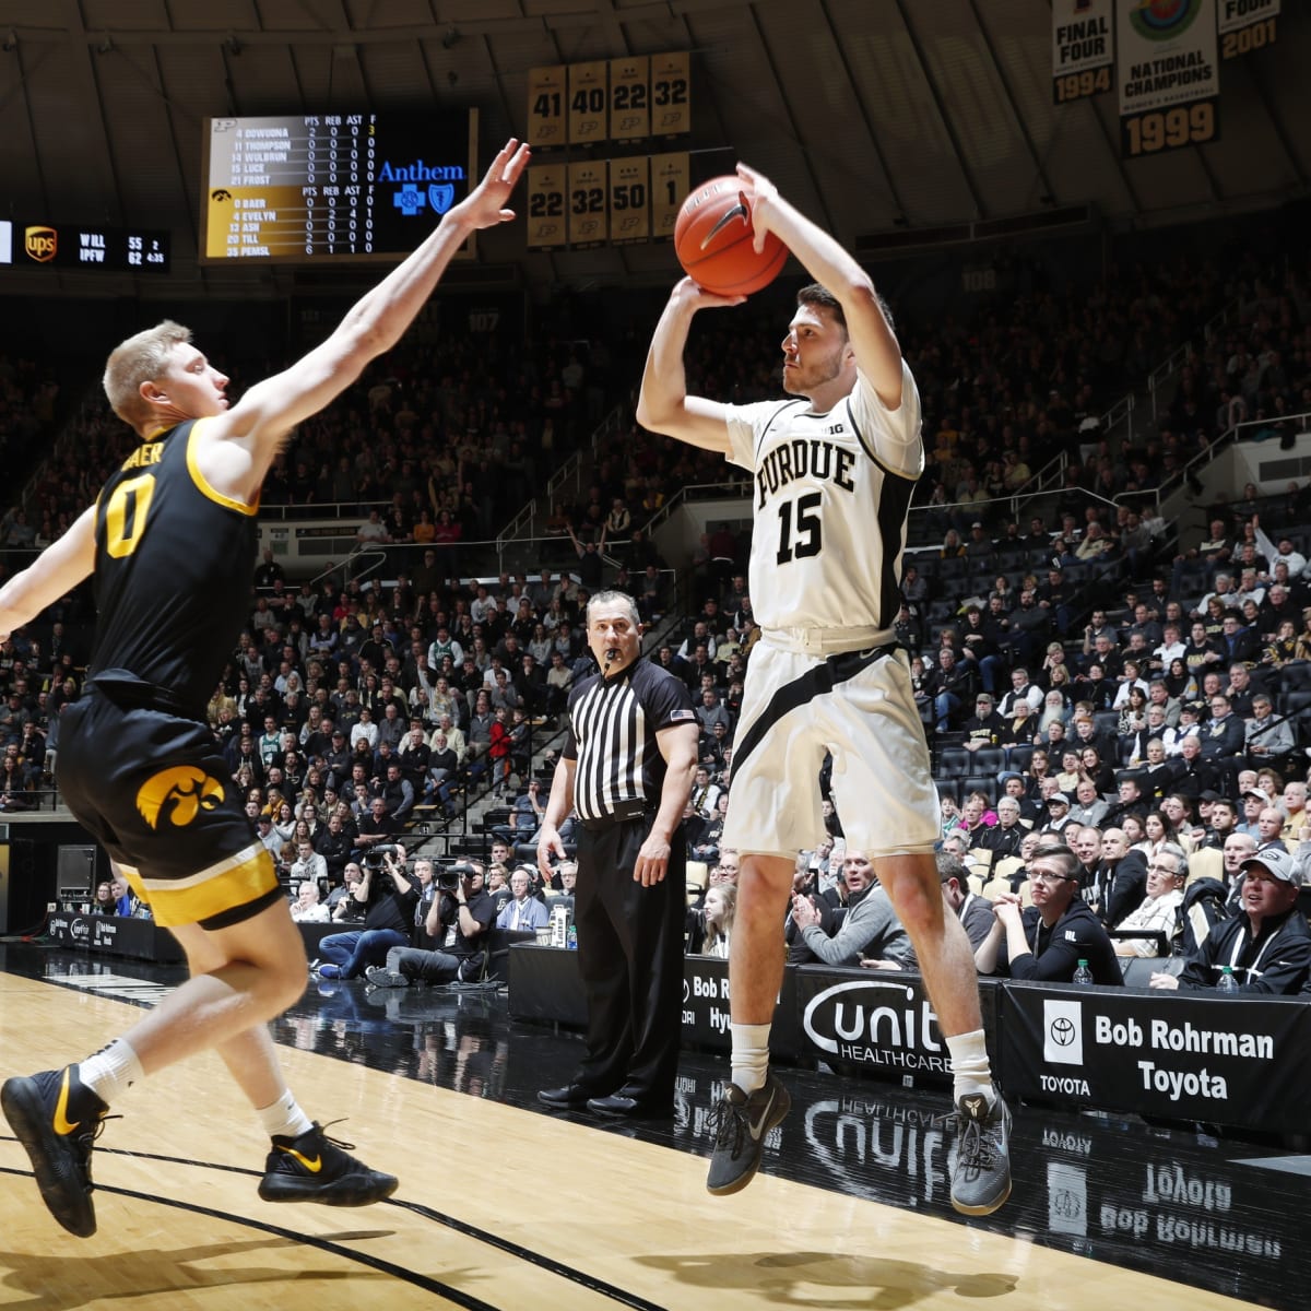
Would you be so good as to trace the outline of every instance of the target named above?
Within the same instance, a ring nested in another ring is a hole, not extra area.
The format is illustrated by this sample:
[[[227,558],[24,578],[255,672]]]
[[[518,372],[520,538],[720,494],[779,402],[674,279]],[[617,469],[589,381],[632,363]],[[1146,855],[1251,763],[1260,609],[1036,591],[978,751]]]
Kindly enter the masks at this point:
[[[860,265],[767,178],[742,164],[737,172],[756,249],[773,232],[818,283],[798,292],[783,340],[783,389],[793,399],[726,405],[687,395],[692,315],[743,298],[684,278],[656,328],[637,402],[645,427],[722,451],[755,476],[750,594],[763,636],[747,669],[724,827],[724,844],[742,853],[729,960],[733,1082],[707,1186],[745,1188],[766,1133],[788,1112],[768,1067],[780,929],[796,853],[825,836],[818,779],[831,751],[847,842],[874,857],[952,1054],[952,1205],[985,1215],[1011,1192],[1011,1117],[992,1087],[969,940],[943,911],[937,794],[893,635],[906,510],[924,467],[919,392]]]

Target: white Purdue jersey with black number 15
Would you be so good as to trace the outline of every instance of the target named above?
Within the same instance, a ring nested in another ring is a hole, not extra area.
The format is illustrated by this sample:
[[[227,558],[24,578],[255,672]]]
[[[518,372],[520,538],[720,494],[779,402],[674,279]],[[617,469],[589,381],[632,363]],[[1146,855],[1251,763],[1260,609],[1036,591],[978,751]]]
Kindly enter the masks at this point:
[[[762,628],[890,628],[906,511],[924,468],[919,389],[902,361],[890,413],[857,372],[827,414],[810,401],[726,406],[729,460],[755,476],[751,611]]]

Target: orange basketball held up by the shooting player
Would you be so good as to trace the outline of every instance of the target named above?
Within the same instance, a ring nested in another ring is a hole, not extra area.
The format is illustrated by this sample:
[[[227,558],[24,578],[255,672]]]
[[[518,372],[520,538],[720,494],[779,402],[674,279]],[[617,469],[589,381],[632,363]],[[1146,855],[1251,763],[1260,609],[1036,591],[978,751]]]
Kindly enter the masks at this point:
[[[697,286],[718,296],[749,296],[781,271],[788,248],[772,232],[766,233],[759,254],[754,241],[751,210],[735,177],[703,182],[678,211],[674,224],[678,262]]]

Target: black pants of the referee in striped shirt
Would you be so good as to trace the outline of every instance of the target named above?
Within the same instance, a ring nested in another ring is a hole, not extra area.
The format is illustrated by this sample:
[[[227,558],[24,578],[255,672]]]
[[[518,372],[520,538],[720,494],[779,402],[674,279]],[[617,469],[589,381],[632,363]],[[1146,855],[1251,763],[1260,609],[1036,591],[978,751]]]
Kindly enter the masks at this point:
[[[653,1110],[674,1101],[683,1003],[687,844],[674,830],[665,878],[633,881],[650,815],[578,827],[574,923],[587,995],[586,1055],[576,1083],[623,1093]]]

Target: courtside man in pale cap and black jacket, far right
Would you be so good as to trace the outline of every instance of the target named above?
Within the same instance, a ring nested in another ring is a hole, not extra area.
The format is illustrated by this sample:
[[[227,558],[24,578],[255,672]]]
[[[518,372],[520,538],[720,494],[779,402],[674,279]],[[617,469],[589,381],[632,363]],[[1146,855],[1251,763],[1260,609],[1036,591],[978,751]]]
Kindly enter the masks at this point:
[[[1154,974],[1155,988],[1214,988],[1226,969],[1247,996],[1299,992],[1311,973],[1311,929],[1298,911],[1299,880],[1282,847],[1261,847],[1242,864],[1239,912],[1219,920],[1183,971]]]

